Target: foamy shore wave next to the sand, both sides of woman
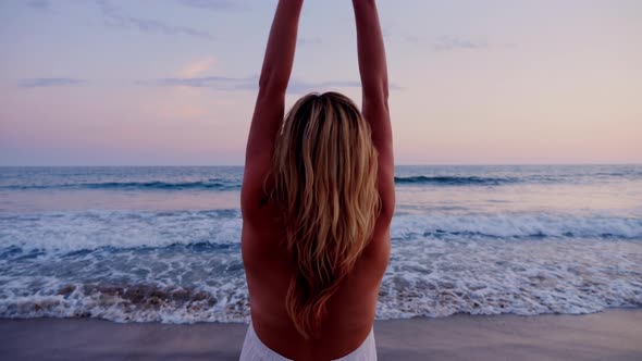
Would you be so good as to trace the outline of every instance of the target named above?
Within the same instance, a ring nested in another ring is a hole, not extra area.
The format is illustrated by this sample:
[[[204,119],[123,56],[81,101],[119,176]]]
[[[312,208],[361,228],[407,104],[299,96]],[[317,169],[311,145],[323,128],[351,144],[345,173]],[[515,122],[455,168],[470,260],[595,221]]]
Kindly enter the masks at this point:
[[[183,247],[0,261],[0,316],[247,322],[238,251]],[[630,241],[396,244],[376,318],[578,314],[642,307],[640,264],[641,245]]]

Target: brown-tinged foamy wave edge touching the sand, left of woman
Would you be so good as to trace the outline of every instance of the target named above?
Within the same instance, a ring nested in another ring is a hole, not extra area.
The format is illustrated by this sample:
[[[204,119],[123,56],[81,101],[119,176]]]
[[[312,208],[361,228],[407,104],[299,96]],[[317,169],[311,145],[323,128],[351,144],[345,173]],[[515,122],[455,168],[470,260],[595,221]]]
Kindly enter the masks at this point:
[[[17,278],[23,284],[29,277]],[[244,322],[247,289],[199,289],[155,284],[59,284],[22,295],[3,291],[2,318],[94,318],[115,322]],[[1,284],[0,279],[0,284]],[[15,279],[4,285],[11,289]],[[236,299],[237,298],[237,299]],[[233,300],[234,299],[234,300]]]

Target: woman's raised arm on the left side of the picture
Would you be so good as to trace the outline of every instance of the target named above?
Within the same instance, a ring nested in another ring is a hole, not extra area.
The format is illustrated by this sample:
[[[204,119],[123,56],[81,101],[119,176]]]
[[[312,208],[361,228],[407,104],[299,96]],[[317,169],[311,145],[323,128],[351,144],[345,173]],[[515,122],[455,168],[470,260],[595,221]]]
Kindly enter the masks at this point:
[[[247,139],[242,202],[255,202],[271,164],[274,139],[285,109],[285,90],[292,74],[299,15],[304,0],[280,0],[272,22],[259,95]]]

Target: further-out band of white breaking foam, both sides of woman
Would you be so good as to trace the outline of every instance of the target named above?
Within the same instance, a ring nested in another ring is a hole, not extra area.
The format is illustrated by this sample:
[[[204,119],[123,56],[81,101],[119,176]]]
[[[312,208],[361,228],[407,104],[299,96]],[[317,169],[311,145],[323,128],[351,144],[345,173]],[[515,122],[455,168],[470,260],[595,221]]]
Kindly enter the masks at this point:
[[[70,252],[102,247],[238,244],[240,212],[82,211],[0,216],[0,248]],[[393,239],[597,238],[642,240],[642,219],[608,213],[398,214]]]

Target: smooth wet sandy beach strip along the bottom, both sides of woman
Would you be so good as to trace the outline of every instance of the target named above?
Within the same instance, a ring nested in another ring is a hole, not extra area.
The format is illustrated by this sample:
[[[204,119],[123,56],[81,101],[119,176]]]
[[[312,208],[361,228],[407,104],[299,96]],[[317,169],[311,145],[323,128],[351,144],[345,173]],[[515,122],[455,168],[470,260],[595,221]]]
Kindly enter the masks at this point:
[[[0,320],[2,360],[237,360],[246,325]],[[642,310],[379,321],[380,360],[641,360]]]

